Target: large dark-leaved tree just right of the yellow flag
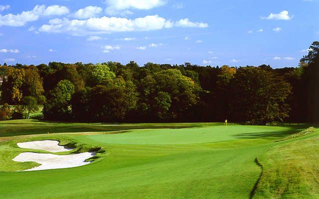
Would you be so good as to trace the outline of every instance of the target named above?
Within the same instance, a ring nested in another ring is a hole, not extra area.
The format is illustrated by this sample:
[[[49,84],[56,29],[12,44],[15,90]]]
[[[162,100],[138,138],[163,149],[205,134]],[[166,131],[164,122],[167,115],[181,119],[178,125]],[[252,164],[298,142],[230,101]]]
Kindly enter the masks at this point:
[[[273,71],[240,67],[231,82],[233,119],[251,124],[283,122],[289,115],[286,100],[291,86]]]

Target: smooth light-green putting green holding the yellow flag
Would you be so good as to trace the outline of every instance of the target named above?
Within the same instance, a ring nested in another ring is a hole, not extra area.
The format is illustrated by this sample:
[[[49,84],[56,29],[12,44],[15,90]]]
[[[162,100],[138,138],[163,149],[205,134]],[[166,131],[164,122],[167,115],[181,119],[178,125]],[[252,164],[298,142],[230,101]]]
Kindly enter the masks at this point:
[[[194,144],[235,140],[245,136],[267,135],[291,132],[290,127],[224,125],[182,129],[142,129],[127,133],[93,135],[87,138],[109,144]]]

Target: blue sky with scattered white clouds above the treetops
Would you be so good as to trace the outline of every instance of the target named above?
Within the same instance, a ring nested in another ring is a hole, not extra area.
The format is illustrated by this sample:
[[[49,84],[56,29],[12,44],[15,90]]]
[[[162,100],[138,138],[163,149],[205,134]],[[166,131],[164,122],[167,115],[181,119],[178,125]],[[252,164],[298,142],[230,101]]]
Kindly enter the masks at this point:
[[[1,0],[0,63],[298,66],[319,0]]]

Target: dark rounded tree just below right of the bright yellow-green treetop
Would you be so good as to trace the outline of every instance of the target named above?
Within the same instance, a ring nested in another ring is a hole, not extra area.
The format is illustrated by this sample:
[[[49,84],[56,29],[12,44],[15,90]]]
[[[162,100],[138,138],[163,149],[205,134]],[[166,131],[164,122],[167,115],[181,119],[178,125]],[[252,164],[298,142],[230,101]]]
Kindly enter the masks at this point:
[[[130,81],[117,78],[112,84],[85,89],[72,99],[73,114],[77,119],[119,121],[136,107],[137,93]]]

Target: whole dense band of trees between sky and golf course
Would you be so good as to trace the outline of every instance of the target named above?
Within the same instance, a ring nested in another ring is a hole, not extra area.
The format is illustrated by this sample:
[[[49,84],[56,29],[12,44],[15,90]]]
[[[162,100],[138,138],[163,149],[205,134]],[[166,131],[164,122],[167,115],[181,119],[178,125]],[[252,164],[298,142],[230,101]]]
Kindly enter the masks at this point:
[[[297,68],[3,64],[0,92],[0,120],[319,122],[319,42]]]

